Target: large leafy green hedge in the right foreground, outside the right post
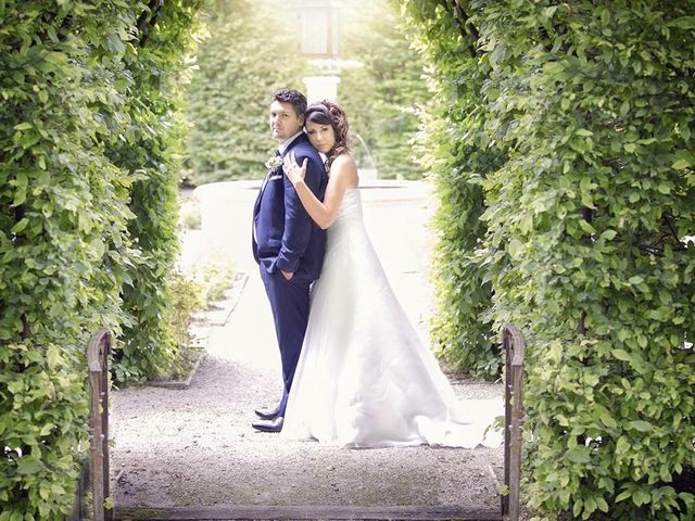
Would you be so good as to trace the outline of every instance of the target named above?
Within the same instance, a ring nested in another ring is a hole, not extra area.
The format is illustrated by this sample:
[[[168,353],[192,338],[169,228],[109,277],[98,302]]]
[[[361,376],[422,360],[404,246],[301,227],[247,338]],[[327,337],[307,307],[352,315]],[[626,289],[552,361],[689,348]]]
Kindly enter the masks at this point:
[[[464,102],[484,105],[485,149],[503,161],[473,183],[488,227],[477,264],[495,329],[513,321],[529,343],[531,510],[692,519],[677,483],[695,439],[695,4],[403,3],[435,50],[430,36],[450,35],[443,67],[472,47],[454,80],[486,68],[482,97]],[[452,142],[479,138],[477,122],[451,125]],[[450,171],[448,191],[472,190]]]

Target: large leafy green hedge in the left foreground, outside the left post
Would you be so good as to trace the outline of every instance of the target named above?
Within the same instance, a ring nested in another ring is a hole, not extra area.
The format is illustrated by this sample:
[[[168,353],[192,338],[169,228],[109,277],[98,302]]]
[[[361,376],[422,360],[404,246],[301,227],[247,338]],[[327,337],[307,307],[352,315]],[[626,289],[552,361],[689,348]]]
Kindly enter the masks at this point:
[[[157,149],[168,106],[160,100],[166,94],[157,97],[156,81],[135,74],[148,66],[155,75],[180,54],[161,45],[152,54],[159,58],[139,62],[142,20],[148,30],[160,30],[149,15],[161,2],[151,3],[0,2],[2,521],[62,519],[70,510],[78,460],[87,450],[87,339],[102,326],[121,332],[122,288],[135,287],[141,276],[132,266],[152,265],[150,256],[170,247],[149,242],[148,234],[160,230],[142,223],[146,217],[138,220],[141,229],[128,230],[132,209],[149,216],[172,206],[166,187],[176,178],[162,166]],[[195,3],[165,3],[165,18],[178,27],[166,38],[179,46]],[[140,102],[147,110],[136,109],[134,89],[143,85],[149,98]],[[148,182],[157,188],[138,188]],[[161,237],[174,240],[166,228]],[[157,257],[156,277],[170,256]],[[138,291],[151,297],[130,305],[130,323],[155,328],[139,317],[152,314],[152,302],[163,309],[160,287]]]

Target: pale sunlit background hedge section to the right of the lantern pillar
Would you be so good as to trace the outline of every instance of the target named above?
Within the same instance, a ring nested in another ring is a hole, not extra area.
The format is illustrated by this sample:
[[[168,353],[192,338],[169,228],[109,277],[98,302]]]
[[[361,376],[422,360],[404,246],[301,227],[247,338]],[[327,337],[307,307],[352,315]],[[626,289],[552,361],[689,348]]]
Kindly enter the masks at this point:
[[[340,20],[341,58],[359,64],[343,67],[338,85],[359,168],[376,168],[381,179],[421,179],[415,144],[428,92],[422,58],[408,39],[412,29],[387,0],[342,2]]]

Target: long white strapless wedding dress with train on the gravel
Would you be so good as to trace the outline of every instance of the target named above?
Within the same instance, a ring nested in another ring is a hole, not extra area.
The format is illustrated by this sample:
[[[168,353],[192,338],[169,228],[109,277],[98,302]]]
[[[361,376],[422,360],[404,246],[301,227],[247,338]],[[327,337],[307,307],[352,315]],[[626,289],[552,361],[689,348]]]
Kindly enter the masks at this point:
[[[346,447],[496,446],[502,401],[457,402],[399,304],[371,245],[358,189],[327,232],[282,435]]]

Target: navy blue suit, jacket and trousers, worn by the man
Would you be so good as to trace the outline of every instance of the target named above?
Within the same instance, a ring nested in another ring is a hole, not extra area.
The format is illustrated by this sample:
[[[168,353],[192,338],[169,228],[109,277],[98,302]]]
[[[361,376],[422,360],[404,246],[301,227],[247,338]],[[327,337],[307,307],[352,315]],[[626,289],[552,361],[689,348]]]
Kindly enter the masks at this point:
[[[282,156],[289,153],[294,153],[300,165],[308,160],[304,182],[323,200],[328,182],[326,169],[305,134],[298,136]],[[308,321],[309,287],[318,279],[324,263],[326,232],[308,216],[281,167],[270,170],[261,186],[253,227],[253,257],[270,301],[282,359],[285,390],[278,409],[279,416],[285,416]],[[294,276],[287,280],[281,271]]]

